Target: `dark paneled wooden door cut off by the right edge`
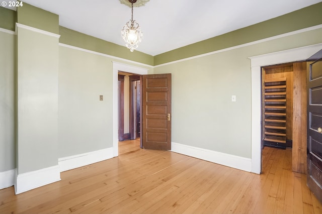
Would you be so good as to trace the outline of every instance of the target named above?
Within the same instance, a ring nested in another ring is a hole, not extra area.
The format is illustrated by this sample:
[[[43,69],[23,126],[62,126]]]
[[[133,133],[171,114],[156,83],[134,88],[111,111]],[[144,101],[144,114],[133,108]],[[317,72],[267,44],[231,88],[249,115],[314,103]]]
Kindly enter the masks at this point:
[[[322,202],[322,59],[307,75],[307,186]]]

